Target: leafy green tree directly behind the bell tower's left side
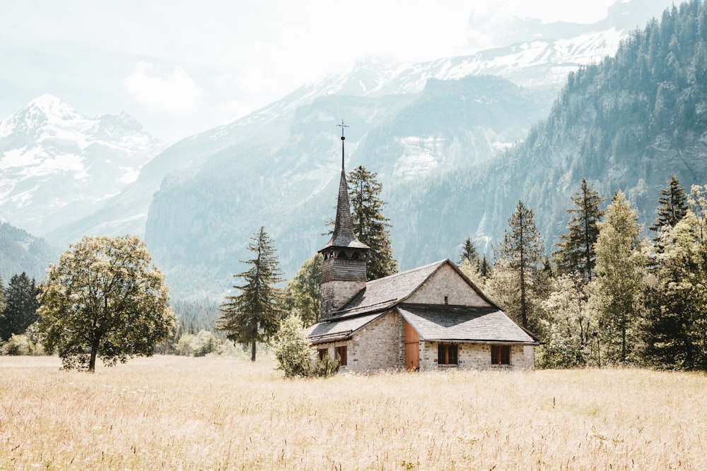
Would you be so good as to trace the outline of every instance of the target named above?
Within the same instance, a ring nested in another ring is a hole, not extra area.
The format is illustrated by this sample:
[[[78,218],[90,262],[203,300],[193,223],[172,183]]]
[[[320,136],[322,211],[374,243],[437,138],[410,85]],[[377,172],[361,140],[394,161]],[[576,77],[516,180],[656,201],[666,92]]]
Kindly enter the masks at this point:
[[[286,288],[287,305],[305,326],[319,322],[322,306],[322,256],[315,254],[302,264]]]

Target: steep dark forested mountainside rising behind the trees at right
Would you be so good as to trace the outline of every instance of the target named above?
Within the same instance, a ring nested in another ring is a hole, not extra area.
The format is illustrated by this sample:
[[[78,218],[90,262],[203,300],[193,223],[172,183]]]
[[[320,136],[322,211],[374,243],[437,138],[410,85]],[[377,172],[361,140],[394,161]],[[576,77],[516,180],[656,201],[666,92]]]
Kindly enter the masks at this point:
[[[688,191],[707,183],[706,156],[707,4],[695,0],[632,32],[613,57],[571,73],[548,117],[492,162],[395,191],[392,207],[416,208],[435,224],[404,220],[393,237],[416,234],[404,238],[406,255],[443,256],[439,241],[449,247],[468,235],[488,249],[522,199],[551,251],[583,177],[607,201],[624,191],[648,226],[671,174]]]

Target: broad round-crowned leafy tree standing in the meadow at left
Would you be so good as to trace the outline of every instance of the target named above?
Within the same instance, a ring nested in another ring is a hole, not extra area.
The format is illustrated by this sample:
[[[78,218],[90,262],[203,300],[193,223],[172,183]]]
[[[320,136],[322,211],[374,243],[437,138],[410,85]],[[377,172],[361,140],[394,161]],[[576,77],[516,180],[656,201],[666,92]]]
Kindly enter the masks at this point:
[[[139,237],[83,237],[49,267],[40,332],[65,369],[151,356],[175,322],[165,280]]]

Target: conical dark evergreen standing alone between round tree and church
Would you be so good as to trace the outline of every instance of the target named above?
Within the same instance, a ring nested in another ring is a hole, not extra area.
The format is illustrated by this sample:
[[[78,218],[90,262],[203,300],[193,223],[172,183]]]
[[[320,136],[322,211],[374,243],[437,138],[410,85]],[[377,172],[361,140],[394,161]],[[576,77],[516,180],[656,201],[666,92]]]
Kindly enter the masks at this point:
[[[227,296],[219,311],[216,328],[228,333],[234,343],[250,345],[250,360],[255,362],[257,342],[266,342],[276,333],[284,309],[284,295],[274,285],[282,281],[280,263],[265,227],[251,237],[248,250],[255,258],[241,261],[250,266],[238,275],[244,285],[233,285],[240,290],[237,296]]]

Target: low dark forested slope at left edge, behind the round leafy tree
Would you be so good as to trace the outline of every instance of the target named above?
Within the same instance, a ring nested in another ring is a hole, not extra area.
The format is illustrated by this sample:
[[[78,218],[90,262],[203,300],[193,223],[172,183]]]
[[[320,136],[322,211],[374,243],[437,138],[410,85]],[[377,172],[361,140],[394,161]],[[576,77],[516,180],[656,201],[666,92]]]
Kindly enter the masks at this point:
[[[5,284],[12,275],[23,272],[40,282],[44,280],[49,263],[56,260],[56,251],[45,239],[0,222],[0,277]]]

